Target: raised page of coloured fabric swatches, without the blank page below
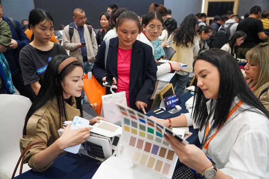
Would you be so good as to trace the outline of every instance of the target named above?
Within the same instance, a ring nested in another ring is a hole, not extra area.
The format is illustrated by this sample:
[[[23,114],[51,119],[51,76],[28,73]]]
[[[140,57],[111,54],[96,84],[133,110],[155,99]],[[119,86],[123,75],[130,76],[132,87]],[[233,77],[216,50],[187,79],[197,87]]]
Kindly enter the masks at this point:
[[[117,156],[172,178],[177,155],[163,138],[165,128],[135,110],[119,107],[123,131]]]

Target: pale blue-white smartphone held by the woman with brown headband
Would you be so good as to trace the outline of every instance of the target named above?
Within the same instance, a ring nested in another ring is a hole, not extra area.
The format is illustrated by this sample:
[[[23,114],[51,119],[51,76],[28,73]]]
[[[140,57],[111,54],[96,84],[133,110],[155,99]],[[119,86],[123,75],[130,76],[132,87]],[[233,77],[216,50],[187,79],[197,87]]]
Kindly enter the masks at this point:
[[[90,124],[90,121],[87,120],[87,119],[83,119],[79,116],[75,116],[72,123],[71,123],[71,126],[70,126],[70,129],[74,130],[74,129],[80,129],[80,128],[83,128],[83,127],[88,127]],[[64,151],[66,152],[71,152],[71,153],[78,153],[79,152],[79,148],[80,148],[81,144],[78,144],[78,145],[75,145],[73,147],[67,147],[65,149],[63,149]]]

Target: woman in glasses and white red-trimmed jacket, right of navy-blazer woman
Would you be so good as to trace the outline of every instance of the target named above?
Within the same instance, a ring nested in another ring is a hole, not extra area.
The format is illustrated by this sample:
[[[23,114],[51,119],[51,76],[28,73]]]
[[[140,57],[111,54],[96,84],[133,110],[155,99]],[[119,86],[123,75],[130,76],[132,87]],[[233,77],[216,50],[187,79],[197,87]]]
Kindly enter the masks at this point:
[[[164,47],[166,47],[167,45],[165,42],[163,42],[162,44],[157,44],[155,48],[153,47],[153,41],[158,39],[163,30],[162,24],[162,16],[158,12],[151,11],[146,15],[144,19],[143,31],[137,36],[137,40],[152,47],[152,52],[154,56],[158,56],[159,54],[160,56],[165,55]],[[166,63],[157,67],[157,77],[164,73],[169,73],[172,70],[181,70],[181,66],[178,63]]]

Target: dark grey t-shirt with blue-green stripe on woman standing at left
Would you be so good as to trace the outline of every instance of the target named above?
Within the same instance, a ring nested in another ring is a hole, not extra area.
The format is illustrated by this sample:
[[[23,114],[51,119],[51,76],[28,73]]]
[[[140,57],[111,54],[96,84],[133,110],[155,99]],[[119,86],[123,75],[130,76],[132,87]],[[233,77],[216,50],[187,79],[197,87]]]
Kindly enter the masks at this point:
[[[24,85],[42,81],[49,61],[56,55],[67,55],[65,48],[56,43],[48,51],[41,51],[30,44],[23,47],[19,53],[19,62]]]

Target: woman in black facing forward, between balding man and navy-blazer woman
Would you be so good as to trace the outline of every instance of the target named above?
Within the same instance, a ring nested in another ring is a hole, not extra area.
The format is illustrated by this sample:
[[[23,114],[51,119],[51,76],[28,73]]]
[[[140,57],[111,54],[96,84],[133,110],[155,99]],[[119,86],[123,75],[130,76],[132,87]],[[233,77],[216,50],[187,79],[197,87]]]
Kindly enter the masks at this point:
[[[107,32],[107,27],[109,24],[109,13],[105,12],[100,15],[100,24],[103,28],[100,29],[100,31],[98,31],[98,33],[95,36],[98,45],[100,45],[101,42],[103,42],[104,36]]]

